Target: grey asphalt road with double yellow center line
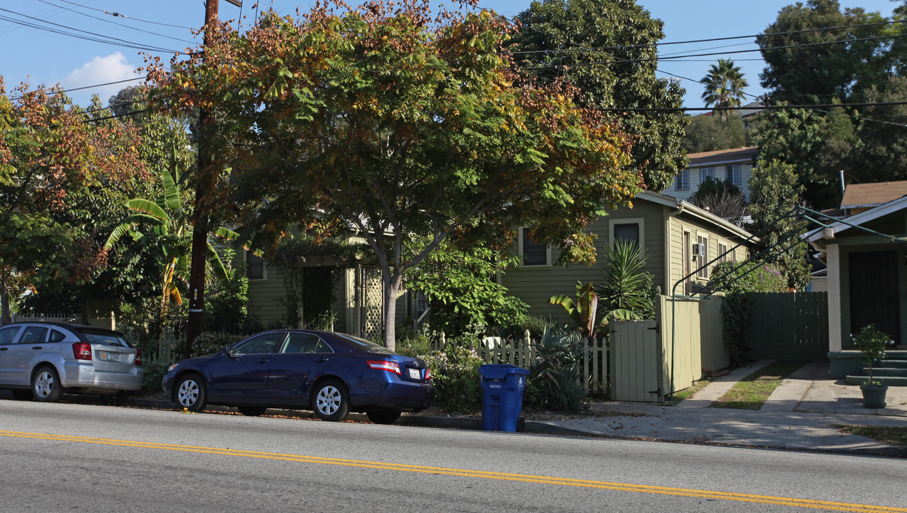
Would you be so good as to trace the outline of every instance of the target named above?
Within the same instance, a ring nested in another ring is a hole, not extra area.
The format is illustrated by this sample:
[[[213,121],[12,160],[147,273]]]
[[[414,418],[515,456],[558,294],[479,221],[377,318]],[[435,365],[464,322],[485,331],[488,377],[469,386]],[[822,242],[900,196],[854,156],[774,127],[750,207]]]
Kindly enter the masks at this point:
[[[898,459],[91,404],[0,401],[0,469],[9,513],[907,511]]]

